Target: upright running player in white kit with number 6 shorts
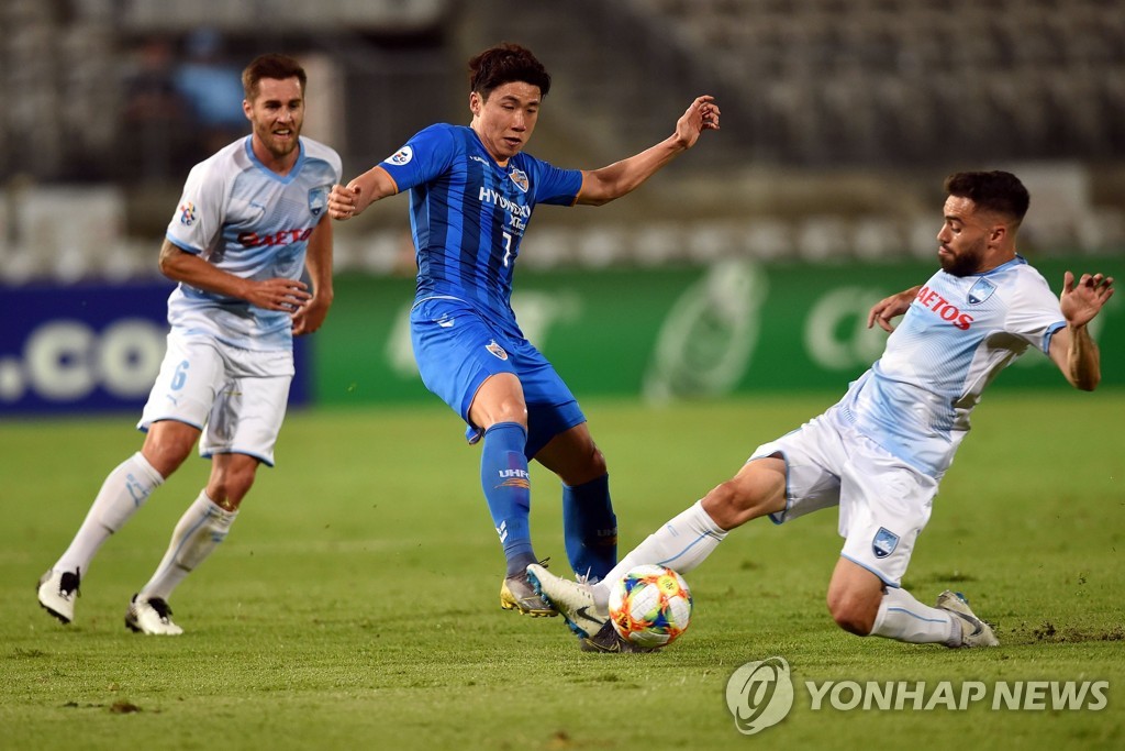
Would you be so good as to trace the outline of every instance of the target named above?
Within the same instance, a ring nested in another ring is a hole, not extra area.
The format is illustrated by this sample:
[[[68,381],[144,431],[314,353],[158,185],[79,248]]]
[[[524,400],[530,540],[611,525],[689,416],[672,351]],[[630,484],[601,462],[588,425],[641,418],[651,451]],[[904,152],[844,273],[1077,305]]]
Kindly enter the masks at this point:
[[[168,301],[168,352],[137,424],[144,444],[109,474],[39,580],[39,604],[64,624],[98,548],[198,440],[212,459],[207,486],[125,616],[134,632],[182,633],[169,596],[226,537],[258,465],[273,465],[292,336],[316,331],[332,304],[327,195],[340,157],[300,137],[306,75],[296,60],[261,55],[242,81],[252,133],[191,170],[161,247],[160,269],[179,285]]]

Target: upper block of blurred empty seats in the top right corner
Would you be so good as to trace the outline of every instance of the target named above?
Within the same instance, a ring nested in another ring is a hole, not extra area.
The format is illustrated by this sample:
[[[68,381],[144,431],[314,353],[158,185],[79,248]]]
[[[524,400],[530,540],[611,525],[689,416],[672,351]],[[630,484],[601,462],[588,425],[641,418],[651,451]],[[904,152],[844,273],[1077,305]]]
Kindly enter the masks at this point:
[[[765,109],[772,125],[747,137],[782,162],[1125,155],[1125,14],[1112,0],[631,7]]]

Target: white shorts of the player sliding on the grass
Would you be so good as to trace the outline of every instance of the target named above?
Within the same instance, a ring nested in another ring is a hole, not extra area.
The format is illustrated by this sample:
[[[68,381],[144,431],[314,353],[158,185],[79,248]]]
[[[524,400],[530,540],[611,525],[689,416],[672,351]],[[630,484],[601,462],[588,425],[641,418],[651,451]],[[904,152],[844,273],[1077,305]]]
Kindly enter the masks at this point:
[[[755,449],[749,461],[785,461],[785,510],[775,524],[839,507],[840,555],[899,587],[915,540],[929,521],[937,480],[892,456],[832,408]]]

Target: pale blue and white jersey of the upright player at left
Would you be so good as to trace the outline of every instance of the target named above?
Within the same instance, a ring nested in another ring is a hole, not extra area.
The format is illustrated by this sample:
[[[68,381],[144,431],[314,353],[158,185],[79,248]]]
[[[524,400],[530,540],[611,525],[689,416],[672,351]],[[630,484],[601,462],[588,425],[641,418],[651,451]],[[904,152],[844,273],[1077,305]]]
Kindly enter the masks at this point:
[[[300,138],[300,155],[288,175],[262,164],[240,138],[196,164],[166,238],[222,270],[246,279],[299,279],[308,238],[340,182],[340,155]],[[187,334],[204,333],[241,349],[292,348],[285,311],[269,311],[181,283],[168,299],[168,321]]]

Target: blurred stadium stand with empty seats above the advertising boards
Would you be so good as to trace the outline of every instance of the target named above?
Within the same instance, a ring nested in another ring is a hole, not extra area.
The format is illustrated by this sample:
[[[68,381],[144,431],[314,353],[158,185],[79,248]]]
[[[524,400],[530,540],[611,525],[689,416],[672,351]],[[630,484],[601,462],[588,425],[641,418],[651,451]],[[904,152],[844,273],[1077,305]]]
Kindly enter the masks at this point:
[[[719,98],[721,133],[629,200],[538,212],[528,266],[929,257],[942,177],[978,168],[1025,177],[1025,244],[1125,248],[1119,0],[3,0],[0,26],[0,281],[154,272],[214,151],[176,82],[204,32],[227,68],[306,63],[305,132],[348,177],[467,122],[465,61],[500,41],[554,74],[532,152],[560,166]],[[402,270],[402,200],[340,226],[341,269]]]

